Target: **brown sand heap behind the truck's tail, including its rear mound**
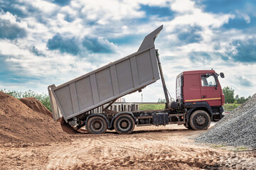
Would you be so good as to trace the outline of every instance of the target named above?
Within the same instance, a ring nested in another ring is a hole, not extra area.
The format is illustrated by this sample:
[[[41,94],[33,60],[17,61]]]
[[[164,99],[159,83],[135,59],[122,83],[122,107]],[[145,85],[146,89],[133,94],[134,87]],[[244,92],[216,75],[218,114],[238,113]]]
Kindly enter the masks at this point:
[[[27,103],[26,106],[24,103]],[[2,145],[30,145],[69,141],[69,137],[55,123],[35,98],[18,99],[0,91],[0,142]],[[32,106],[36,103],[35,106]],[[41,112],[43,111],[43,113]]]

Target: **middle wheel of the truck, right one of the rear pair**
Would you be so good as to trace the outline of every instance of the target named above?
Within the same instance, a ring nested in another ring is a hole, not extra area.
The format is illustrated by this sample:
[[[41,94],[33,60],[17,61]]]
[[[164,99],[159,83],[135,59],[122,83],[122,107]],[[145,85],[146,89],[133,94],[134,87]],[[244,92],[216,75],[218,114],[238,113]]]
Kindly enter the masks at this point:
[[[131,115],[119,115],[114,120],[114,130],[119,134],[130,134],[135,127],[134,119]]]

